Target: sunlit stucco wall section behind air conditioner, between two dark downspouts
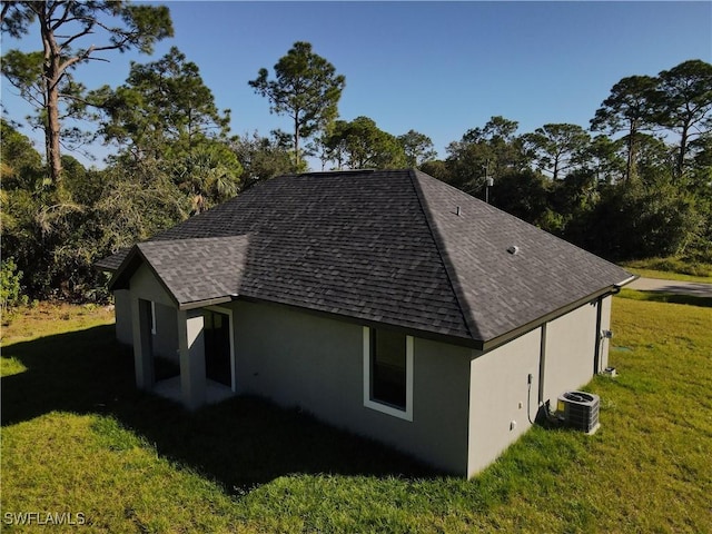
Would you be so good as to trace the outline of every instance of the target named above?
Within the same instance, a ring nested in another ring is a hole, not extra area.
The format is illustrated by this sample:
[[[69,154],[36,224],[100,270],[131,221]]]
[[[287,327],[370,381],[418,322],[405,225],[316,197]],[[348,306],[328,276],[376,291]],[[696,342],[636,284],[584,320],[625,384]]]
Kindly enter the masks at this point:
[[[593,377],[597,301],[586,304],[546,325],[544,402],[587,384]]]

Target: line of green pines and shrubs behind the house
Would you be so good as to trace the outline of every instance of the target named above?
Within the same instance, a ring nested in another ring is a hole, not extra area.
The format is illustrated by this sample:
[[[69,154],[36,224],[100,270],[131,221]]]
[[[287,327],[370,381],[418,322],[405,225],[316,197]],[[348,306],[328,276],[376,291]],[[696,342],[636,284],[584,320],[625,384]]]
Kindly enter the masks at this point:
[[[259,181],[306,170],[307,158],[323,170],[418,167],[612,260],[712,261],[712,66],[704,61],[622,79],[590,128],[548,123],[518,134],[515,120],[492,117],[437,159],[422,132],[340,118],[346,78],[308,42],[248,81],[290,131],[234,136],[230,110],[217,108],[198,66],[177,48],[132,62],[119,87],[75,79],[113,51],[151,53],[174,33],[167,8],[2,1],[1,16],[4,33],[36,32],[42,46],[2,56],[2,75],[34,105],[28,120],[46,140],[40,155],[18,118],[2,119],[1,280],[16,299],[105,299],[97,259]],[[100,170],[70,155],[92,139],[113,147]]]

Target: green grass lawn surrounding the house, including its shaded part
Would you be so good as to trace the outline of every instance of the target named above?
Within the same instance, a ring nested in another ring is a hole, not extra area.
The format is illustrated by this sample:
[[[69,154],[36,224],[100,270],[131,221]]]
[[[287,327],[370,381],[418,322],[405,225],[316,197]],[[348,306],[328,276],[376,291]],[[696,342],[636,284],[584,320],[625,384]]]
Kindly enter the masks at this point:
[[[40,305],[3,330],[2,532],[712,532],[712,308],[613,315],[599,432],[535,427],[463,481],[256,398],[188,414],[135,389],[107,310]]]

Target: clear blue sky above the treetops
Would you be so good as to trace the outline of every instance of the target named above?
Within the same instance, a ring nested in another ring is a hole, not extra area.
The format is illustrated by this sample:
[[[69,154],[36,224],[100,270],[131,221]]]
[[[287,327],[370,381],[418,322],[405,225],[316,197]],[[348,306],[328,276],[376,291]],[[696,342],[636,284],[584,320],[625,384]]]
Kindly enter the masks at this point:
[[[502,115],[520,134],[547,122],[583,127],[611,87],[688,59],[712,62],[712,2],[196,2],[171,1],[175,38],[151,57],[107,56],[78,71],[88,87],[117,86],[129,61],[148,62],[177,46],[196,62],[233,131],[289,130],[247,82],[295,41],[346,77],[342,118],[429,136],[439,157],[469,128]],[[3,36],[2,49],[39,49]],[[2,80],[10,118],[28,112]],[[30,134],[26,131],[27,134]],[[32,132],[40,148],[41,136]],[[101,167],[106,149],[96,148]],[[85,161],[83,158],[79,158]]]

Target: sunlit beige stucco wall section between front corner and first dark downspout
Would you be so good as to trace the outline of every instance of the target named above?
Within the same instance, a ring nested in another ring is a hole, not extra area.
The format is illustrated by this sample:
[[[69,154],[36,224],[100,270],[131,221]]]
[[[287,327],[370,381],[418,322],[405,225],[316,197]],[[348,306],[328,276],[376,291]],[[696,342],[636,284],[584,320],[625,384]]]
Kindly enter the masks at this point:
[[[534,421],[541,333],[537,328],[472,359],[467,476],[486,467],[531,427],[527,403]]]

